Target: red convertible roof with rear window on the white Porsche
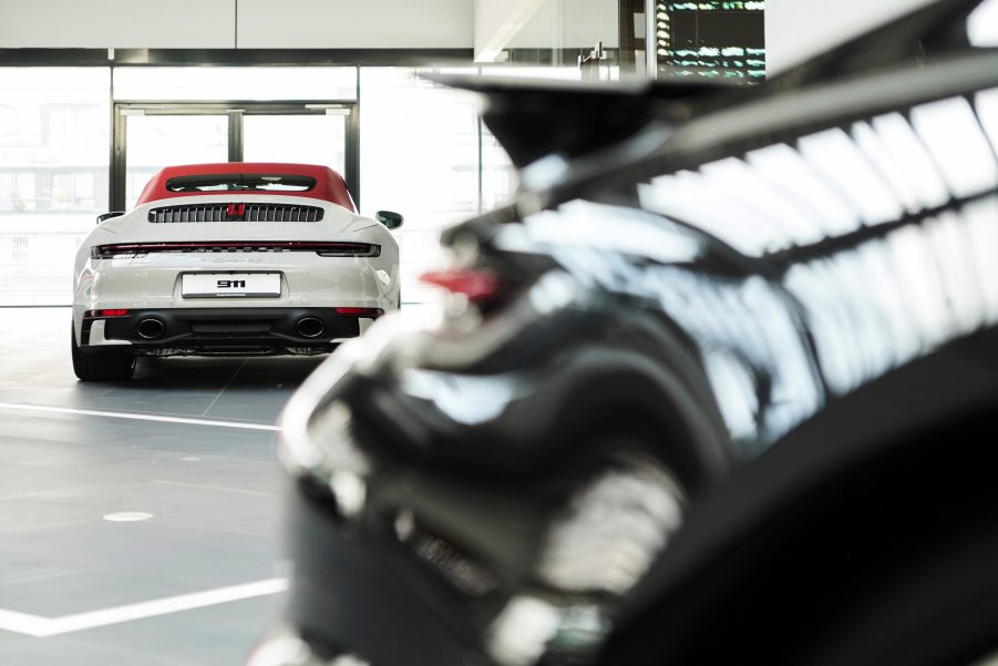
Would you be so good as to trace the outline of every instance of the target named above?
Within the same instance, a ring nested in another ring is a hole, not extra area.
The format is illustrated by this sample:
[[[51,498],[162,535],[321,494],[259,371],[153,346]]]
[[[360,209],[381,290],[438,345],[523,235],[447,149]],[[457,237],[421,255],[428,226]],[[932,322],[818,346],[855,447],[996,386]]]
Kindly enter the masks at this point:
[[[150,180],[136,205],[222,193],[307,196],[357,212],[343,176],[328,166],[278,162],[167,166]]]

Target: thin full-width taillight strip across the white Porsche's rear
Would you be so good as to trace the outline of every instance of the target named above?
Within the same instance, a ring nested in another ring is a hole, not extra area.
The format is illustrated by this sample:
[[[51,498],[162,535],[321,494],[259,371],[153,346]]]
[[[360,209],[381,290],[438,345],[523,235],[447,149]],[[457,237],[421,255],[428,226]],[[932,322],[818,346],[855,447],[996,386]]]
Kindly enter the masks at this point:
[[[120,255],[142,255],[151,253],[249,253],[249,252],[313,252],[323,257],[377,257],[381,246],[370,243],[338,243],[311,240],[226,240],[181,242],[181,243],[117,243],[94,245],[90,256],[94,259],[110,259]]]

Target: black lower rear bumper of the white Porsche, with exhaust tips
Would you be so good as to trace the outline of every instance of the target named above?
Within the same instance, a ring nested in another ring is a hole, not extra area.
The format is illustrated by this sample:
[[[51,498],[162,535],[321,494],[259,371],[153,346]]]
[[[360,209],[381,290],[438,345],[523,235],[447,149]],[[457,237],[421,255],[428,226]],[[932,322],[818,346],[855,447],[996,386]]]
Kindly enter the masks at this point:
[[[320,307],[130,309],[123,317],[85,312],[80,349],[85,354],[323,351],[357,337],[373,320]]]

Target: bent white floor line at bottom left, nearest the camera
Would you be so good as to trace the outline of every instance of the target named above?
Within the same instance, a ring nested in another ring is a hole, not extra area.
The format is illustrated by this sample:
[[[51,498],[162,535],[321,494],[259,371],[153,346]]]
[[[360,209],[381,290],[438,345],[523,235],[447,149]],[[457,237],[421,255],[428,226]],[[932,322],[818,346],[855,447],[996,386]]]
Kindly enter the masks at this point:
[[[284,592],[287,588],[288,581],[286,578],[270,578],[268,581],[257,581],[256,583],[233,585],[232,587],[219,587],[217,590],[171,596],[152,602],[142,602],[138,604],[105,608],[103,611],[92,611],[90,613],[79,613],[76,615],[51,618],[0,609],[0,629],[41,638],[59,634],[69,634],[71,632],[80,632],[83,629],[92,629],[111,624],[132,622],[134,619],[156,617],[169,613],[179,613],[181,611],[193,611],[195,608],[204,608],[206,606],[215,606],[257,596],[267,596],[269,594]]]

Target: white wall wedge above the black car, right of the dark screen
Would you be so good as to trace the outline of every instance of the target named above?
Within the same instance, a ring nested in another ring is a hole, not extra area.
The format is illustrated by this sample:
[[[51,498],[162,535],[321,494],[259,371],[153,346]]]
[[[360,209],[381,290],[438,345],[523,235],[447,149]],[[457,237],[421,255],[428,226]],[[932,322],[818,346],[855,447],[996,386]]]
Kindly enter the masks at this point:
[[[779,73],[933,0],[766,0],[765,71]]]

